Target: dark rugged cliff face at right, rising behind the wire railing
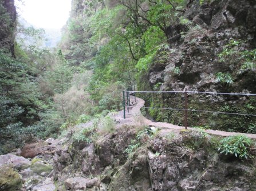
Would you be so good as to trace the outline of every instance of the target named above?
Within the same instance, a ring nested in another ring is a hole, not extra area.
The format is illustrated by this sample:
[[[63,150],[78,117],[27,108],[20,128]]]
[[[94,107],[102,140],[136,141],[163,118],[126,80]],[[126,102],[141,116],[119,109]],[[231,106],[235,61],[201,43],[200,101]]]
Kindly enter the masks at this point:
[[[191,0],[183,17],[188,19],[187,24],[179,22],[170,27],[171,48],[163,50],[167,59],[155,59],[148,74],[141,77],[140,89],[184,91],[187,88],[188,91],[255,93],[256,2],[215,0],[200,4]],[[163,60],[166,61],[163,63]],[[148,97],[148,104],[183,108],[180,97],[157,96],[153,104],[153,99]],[[191,94],[189,97],[189,107],[199,110],[250,113],[253,111],[249,111],[245,105],[255,103],[253,97],[246,96]],[[225,105],[230,108],[223,108]],[[172,113],[174,112],[152,111],[151,115],[156,120],[183,124],[180,120],[182,114]],[[208,119],[212,118],[211,115],[195,112],[190,114],[194,115],[190,115],[191,126],[203,123],[210,125]],[[239,129],[244,118],[219,117],[222,120],[215,119],[216,123],[211,128],[218,127],[227,131],[234,127],[234,131],[246,132],[249,124],[255,122],[254,119],[249,119],[250,123]],[[234,120],[237,124],[232,122]]]

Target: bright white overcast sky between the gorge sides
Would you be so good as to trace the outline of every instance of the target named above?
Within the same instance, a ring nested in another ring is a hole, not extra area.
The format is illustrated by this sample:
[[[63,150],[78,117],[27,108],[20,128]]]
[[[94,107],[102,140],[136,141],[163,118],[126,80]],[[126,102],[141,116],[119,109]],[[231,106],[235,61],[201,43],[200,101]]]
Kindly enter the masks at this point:
[[[72,0],[15,0],[18,14],[35,27],[61,29],[71,10]]]

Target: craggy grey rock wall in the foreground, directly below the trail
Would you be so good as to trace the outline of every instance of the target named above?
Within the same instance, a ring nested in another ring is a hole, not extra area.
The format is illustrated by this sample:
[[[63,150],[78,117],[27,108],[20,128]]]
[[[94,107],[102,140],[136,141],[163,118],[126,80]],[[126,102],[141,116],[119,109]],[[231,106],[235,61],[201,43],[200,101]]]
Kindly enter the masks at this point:
[[[219,154],[219,137],[202,136],[196,131],[162,130],[155,136],[138,131],[138,127],[126,126],[94,143],[62,142],[54,156],[58,188],[65,185],[67,190],[113,191],[256,189],[253,161],[242,162],[232,155]],[[140,146],[127,152],[138,136]]]

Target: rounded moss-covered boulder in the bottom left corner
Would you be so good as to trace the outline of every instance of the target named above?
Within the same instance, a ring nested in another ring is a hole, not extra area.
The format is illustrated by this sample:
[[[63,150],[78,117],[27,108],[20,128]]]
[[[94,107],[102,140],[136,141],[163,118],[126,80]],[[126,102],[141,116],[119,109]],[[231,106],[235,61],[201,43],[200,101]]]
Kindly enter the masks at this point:
[[[22,187],[21,177],[10,166],[0,167],[0,190],[20,190]]]

